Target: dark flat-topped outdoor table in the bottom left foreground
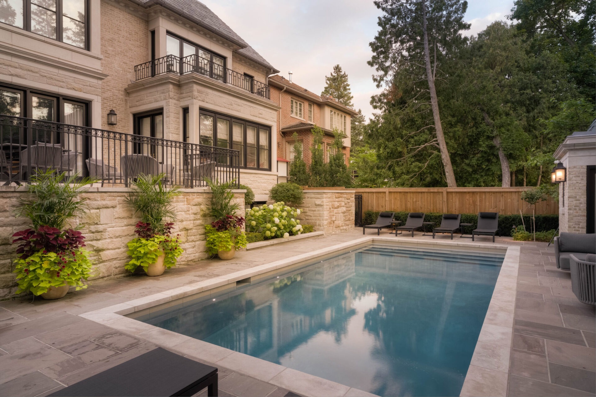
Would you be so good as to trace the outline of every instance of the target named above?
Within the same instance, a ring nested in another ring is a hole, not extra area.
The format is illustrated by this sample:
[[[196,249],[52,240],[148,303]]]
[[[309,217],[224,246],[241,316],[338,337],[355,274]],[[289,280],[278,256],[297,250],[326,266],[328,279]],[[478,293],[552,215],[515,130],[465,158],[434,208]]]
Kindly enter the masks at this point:
[[[50,396],[192,396],[205,387],[218,395],[218,368],[157,348]]]

